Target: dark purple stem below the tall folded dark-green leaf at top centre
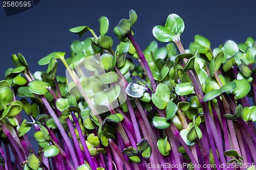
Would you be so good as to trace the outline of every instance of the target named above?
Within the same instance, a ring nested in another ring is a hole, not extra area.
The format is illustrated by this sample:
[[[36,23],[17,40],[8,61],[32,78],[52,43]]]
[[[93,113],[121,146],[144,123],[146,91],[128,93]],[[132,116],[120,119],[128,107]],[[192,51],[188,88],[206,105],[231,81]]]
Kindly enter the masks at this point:
[[[137,53],[138,53],[138,56],[139,56],[139,58],[141,59],[141,62],[143,63],[143,66],[145,67],[145,70],[146,70],[146,72],[147,72],[148,78],[150,79],[153,92],[155,93],[157,86],[156,86],[156,82],[155,82],[155,80],[154,80],[154,77],[153,77],[153,75],[152,75],[150,66],[148,66],[147,61],[146,61],[146,58],[145,58],[143,52],[141,51],[139,45],[137,44],[137,42],[134,40],[132,33],[129,32],[129,33],[127,34],[127,37],[128,37],[128,39],[132,42],[134,48],[136,49],[136,51],[137,51]]]

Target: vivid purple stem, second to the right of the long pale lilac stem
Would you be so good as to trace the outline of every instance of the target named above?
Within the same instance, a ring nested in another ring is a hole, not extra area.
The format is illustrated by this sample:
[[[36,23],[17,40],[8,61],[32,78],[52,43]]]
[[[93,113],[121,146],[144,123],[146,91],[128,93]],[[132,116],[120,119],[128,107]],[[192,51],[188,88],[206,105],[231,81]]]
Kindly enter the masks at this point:
[[[72,118],[73,118],[73,120],[74,120],[74,122],[75,122],[75,125],[76,125],[76,128],[77,128],[77,132],[78,132],[78,134],[79,134],[79,136],[80,136],[80,140],[81,140],[81,143],[82,143],[82,147],[83,147],[84,153],[86,154],[86,157],[87,157],[87,159],[88,159],[88,162],[89,162],[89,164],[90,164],[92,170],[96,170],[96,166],[95,166],[94,161],[93,161],[93,159],[92,159],[92,156],[91,156],[91,154],[90,154],[90,152],[89,152],[89,150],[88,150],[88,147],[87,147],[87,144],[86,144],[86,140],[84,139],[84,136],[83,136],[83,134],[82,134],[82,130],[81,130],[80,124],[79,124],[79,122],[78,122],[78,119],[77,119],[77,117],[75,116],[74,112],[71,112],[71,115],[72,115]]]

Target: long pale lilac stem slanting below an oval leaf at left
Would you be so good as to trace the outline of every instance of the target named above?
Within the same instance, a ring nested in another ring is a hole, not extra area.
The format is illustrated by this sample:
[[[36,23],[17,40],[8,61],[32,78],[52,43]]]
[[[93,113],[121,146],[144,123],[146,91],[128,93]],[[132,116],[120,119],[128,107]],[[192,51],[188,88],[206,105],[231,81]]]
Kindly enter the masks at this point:
[[[45,104],[46,108],[48,109],[49,113],[51,114],[52,118],[54,119],[54,122],[56,123],[56,125],[57,125],[57,127],[59,129],[59,132],[60,132],[61,136],[63,137],[63,140],[66,142],[66,144],[68,146],[69,152],[71,154],[74,154],[73,156],[71,156],[71,158],[72,158],[72,161],[74,163],[75,168],[77,168],[79,165],[78,165],[78,161],[77,161],[76,156],[75,156],[75,150],[73,148],[72,143],[69,140],[69,137],[68,137],[67,133],[65,132],[65,129],[62,127],[61,123],[59,122],[58,117],[56,116],[56,114],[53,111],[52,107],[50,106],[50,104],[46,100],[45,96],[40,95],[40,99]]]

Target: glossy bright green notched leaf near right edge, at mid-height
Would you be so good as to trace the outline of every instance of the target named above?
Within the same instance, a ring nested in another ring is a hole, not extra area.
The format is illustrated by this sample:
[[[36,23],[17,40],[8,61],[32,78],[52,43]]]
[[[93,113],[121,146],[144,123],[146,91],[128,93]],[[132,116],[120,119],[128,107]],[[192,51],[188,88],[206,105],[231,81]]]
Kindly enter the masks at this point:
[[[233,82],[237,84],[237,87],[232,91],[234,96],[238,99],[244,98],[251,89],[250,84],[246,80],[234,80]]]

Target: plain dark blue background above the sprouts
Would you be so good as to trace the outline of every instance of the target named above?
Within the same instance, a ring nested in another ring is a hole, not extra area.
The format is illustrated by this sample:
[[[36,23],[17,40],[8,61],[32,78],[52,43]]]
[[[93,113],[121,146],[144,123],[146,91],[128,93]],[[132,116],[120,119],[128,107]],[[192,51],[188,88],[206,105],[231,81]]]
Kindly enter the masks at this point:
[[[13,66],[11,54],[22,53],[31,71],[44,70],[37,61],[46,55],[63,51],[70,55],[70,44],[79,39],[69,33],[69,29],[88,25],[98,33],[98,18],[105,15],[110,20],[107,35],[118,39],[112,30],[120,19],[129,18],[129,10],[134,9],[138,21],[134,26],[135,39],[141,48],[155,40],[152,29],[164,25],[170,13],[180,15],[185,22],[181,40],[185,48],[201,34],[211,41],[212,48],[232,39],[244,42],[248,36],[256,39],[255,1],[60,1],[41,0],[35,7],[22,13],[5,15],[0,7],[0,78]],[[90,33],[82,36],[82,40]],[[160,44],[163,45],[163,44]],[[62,64],[58,74],[64,75]]]

